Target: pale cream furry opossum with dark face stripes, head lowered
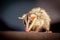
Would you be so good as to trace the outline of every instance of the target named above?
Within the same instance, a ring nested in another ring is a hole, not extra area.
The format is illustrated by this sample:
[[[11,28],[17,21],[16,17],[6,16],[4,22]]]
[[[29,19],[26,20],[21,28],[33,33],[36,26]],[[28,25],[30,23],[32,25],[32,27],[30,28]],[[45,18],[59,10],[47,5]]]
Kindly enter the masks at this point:
[[[35,15],[35,18],[32,19],[31,15]],[[24,18],[26,23],[24,24],[27,32],[39,32],[42,28],[45,29],[46,32],[50,32],[51,19],[44,9],[41,9],[40,7],[33,8],[31,11],[25,14],[25,17],[23,15],[22,18]]]

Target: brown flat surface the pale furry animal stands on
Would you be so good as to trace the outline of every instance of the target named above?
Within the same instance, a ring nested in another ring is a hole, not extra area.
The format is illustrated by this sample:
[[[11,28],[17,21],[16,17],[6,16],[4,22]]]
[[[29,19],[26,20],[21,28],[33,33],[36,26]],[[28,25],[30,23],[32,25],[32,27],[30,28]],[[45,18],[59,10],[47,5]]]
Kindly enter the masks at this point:
[[[10,40],[60,40],[60,33],[44,33],[44,32],[1,32],[3,37]]]

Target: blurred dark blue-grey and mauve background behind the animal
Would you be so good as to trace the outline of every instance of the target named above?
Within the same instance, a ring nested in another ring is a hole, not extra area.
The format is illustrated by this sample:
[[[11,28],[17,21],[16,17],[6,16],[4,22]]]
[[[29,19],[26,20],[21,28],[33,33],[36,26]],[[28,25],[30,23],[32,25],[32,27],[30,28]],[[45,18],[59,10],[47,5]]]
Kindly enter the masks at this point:
[[[25,31],[18,17],[34,7],[41,7],[51,17],[50,30],[60,33],[60,0],[2,0],[0,6],[0,31]]]

